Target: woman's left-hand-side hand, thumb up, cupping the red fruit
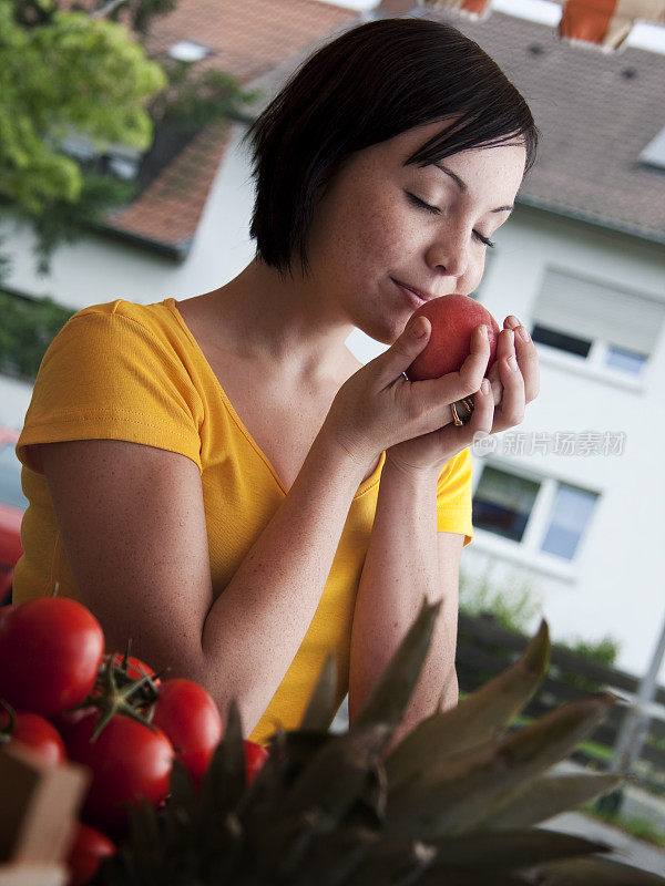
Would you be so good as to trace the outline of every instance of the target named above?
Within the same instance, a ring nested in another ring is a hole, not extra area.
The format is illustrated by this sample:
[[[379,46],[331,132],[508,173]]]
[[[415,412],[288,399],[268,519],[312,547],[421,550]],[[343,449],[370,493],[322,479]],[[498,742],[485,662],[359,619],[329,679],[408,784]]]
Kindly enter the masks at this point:
[[[482,383],[490,358],[485,329],[479,326],[473,330],[471,353],[459,372],[411,382],[403,373],[431,332],[426,317],[411,318],[388,350],[341,385],[324,422],[327,433],[369,467],[389,446],[449,424],[450,404],[474,394]]]

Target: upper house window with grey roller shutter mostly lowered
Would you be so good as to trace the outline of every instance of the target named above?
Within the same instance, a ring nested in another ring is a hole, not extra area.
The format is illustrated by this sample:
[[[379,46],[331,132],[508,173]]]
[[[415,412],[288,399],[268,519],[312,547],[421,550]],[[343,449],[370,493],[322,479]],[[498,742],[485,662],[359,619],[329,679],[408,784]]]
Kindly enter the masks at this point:
[[[640,377],[661,334],[665,305],[549,268],[532,313],[531,337],[539,344]]]

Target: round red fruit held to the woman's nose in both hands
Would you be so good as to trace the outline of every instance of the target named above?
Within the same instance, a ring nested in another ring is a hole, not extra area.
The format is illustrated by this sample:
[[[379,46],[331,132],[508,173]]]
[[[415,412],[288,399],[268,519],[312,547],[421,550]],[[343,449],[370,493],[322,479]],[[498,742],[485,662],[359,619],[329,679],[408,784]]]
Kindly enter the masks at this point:
[[[432,324],[430,339],[424,349],[407,369],[410,381],[438,379],[449,372],[459,372],[471,353],[471,333],[480,323],[488,327],[490,359],[485,375],[497,359],[497,337],[500,329],[497,320],[478,301],[468,296],[441,296],[421,305],[412,317],[427,317]]]

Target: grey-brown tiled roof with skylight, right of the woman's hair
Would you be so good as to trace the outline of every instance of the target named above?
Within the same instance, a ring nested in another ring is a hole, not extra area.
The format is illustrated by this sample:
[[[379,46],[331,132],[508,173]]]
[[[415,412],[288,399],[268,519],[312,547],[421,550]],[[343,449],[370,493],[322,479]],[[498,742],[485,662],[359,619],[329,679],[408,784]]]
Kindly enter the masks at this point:
[[[607,53],[556,28],[492,10],[452,23],[485,50],[526,99],[541,132],[518,202],[665,244],[665,169],[640,154],[665,125],[665,55]]]

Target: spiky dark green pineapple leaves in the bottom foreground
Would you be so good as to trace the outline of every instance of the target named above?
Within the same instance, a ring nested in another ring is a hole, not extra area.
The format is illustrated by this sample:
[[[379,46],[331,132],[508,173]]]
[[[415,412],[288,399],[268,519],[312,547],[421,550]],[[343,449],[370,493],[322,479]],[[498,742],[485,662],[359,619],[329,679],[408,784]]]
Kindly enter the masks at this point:
[[[132,832],[98,886],[647,886],[665,880],[611,847],[533,825],[615,787],[620,775],[552,775],[616,701],[598,693],[520,730],[509,725],[542,683],[546,624],[522,657],[456,708],[392,738],[418,683],[440,602],[421,610],[348,732],[330,733],[329,656],[297,730],[278,729],[246,785],[235,701],[197,794],[173,770],[165,807],[132,813]]]

